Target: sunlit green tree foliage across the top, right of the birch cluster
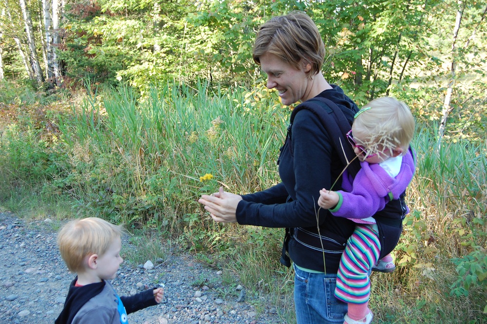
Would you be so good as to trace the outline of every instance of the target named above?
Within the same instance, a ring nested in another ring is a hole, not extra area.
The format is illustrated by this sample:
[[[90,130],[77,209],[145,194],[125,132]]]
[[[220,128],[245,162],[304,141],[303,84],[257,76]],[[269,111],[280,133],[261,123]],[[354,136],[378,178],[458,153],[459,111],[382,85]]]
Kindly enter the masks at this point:
[[[67,48],[59,55],[70,79],[128,82],[143,96],[150,84],[172,79],[194,86],[199,79],[210,87],[251,86],[260,76],[251,58],[256,31],[270,17],[292,10],[316,21],[328,54],[325,78],[353,93],[359,105],[418,80],[438,90],[446,87],[452,59],[458,80],[485,75],[486,21],[480,2],[464,8],[454,53],[456,1],[184,0],[164,6],[98,1],[68,8]],[[443,97],[438,91],[437,99]],[[453,106],[461,110],[462,95],[454,98]]]

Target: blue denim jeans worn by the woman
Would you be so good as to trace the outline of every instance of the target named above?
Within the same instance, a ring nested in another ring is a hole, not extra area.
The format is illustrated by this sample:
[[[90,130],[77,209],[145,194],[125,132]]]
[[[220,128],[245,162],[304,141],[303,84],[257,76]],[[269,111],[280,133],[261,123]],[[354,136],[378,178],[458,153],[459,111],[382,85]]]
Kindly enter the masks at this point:
[[[335,297],[337,274],[309,273],[294,267],[294,305],[298,324],[344,321],[347,304]]]

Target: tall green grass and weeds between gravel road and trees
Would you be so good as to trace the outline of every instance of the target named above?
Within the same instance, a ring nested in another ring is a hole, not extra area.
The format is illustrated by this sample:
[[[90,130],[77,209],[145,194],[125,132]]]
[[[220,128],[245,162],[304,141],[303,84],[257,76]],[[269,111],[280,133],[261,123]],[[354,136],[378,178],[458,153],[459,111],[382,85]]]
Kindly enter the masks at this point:
[[[452,116],[437,149],[435,107],[418,106],[431,91],[403,94],[415,95],[407,102],[418,120],[411,213],[394,251],[397,270],[372,275],[371,307],[376,323],[487,323],[486,120]],[[246,193],[279,181],[289,110],[275,94],[169,84],[145,98],[130,88],[89,93],[46,112],[59,132],[29,122],[29,114],[2,128],[1,209],[124,224],[135,246],[123,252],[127,262],[185,248],[238,274],[257,309],[276,307],[294,323],[293,273],[279,264],[282,230],[217,224],[197,203],[219,186]],[[476,97],[464,106],[485,110]],[[200,181],[206,173],[213,178]]]

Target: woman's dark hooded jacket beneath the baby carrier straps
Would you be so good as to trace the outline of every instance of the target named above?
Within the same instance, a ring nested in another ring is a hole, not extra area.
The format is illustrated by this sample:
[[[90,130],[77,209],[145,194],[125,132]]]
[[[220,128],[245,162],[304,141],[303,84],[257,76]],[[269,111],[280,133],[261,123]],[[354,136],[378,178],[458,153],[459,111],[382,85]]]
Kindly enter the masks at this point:
[[[338,86],[325,90],[318,96],[332,100],[343,111],[352,125],[358,111],[356,104]],[[324,105],[324,104],[323,104]],[[328,112],[331,109],[324,105]],[[318,196],[321,188],[330,189],[339,178],[344,165],[318,117],[307,109],[296,114],[292,124],[292,153],[287,138],[279,156],[281,183],[267,190],[243,195],[237,207],[237,221],[243,225],[271,228],[302,228],[325,236],[323,253],[308,248],[291,237],[288,251],[300,267],[337,273],[341,254],[355,224],[342,217],[333,217],[328,210],[320,210],[317,220]],[[333,190],[341,189],[341,178]]]

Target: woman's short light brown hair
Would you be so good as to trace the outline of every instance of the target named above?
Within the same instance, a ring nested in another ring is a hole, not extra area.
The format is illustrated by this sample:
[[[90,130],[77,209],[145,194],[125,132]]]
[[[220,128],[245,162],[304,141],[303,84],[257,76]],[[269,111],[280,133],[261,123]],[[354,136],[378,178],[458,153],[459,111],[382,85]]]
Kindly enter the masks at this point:
[[[321,70],[325,45],[313,20],[303,12],[293,11],[274,17],[260,27],[252,57],[260,65],[260,57],[266,53],[280,57],[297,69],[301,61],[310,63],[308,76],[311,77]]]

